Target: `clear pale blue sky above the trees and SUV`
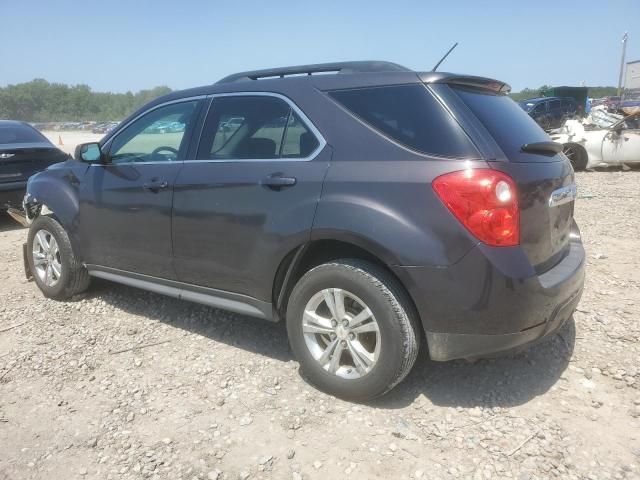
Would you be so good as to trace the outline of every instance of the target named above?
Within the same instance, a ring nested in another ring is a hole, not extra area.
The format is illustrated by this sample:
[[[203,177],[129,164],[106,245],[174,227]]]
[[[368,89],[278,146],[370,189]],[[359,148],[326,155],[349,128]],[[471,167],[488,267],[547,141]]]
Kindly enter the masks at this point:
[[[345,60],[431,70],[455,42],[440,70],[514,91],[617,85],[625,31],[640,60],[640,0],[0,0],[0,86],[182,89]]]

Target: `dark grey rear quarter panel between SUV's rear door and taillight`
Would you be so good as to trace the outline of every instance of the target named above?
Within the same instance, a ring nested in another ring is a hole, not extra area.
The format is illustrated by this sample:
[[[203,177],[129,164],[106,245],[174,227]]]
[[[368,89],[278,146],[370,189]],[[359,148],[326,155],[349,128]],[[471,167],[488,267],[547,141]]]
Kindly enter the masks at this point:
[[[321,92],[308,113],[333,147],[312,240],[358,245],[387,265],[446,266],[477,240],[431,187],[434,178],[483,160],[422,155],[384,137]]]

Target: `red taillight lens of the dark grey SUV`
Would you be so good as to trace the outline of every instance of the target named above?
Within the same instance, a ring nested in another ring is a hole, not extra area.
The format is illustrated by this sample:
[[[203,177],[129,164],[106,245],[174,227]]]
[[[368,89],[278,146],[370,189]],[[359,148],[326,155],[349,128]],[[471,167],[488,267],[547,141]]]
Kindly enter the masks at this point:
[[[520,243],[518,195],[508,175],[470,168],[441,175],[432,185],[451,213],[481,242],[494,247]]]

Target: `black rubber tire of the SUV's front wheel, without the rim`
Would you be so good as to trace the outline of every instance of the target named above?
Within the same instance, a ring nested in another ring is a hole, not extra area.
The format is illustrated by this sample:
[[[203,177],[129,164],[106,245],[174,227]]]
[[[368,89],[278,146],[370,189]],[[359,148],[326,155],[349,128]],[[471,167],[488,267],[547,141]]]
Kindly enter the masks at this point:
[[[55,238],[58,245],[58,259],[61,266],[60,276],[55,285],[47,285],[36,272],[33,259],[33,245],[36,234],[40,231],[46,231]],[[29,227],[29,235],[27,237],[27,259],[29,269],[35,279],[38,288],[47,298],[55,300],[66,300],[73,295],[85,291],[89,287],[90,277],[84,265],[78,261],[67,232],[62,228],[58,221],[48,215],[37,217]]]

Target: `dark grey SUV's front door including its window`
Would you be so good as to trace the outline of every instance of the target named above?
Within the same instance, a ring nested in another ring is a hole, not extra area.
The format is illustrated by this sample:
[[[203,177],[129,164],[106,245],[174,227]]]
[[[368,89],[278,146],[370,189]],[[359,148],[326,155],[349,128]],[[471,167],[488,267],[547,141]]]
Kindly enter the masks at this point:
[[[189,148],[199,100],[154,107],[105,145],[80,190],[86,263],[175,278],[171,265],[173,183]],[[177,126],[164,126],[177,122]]]

